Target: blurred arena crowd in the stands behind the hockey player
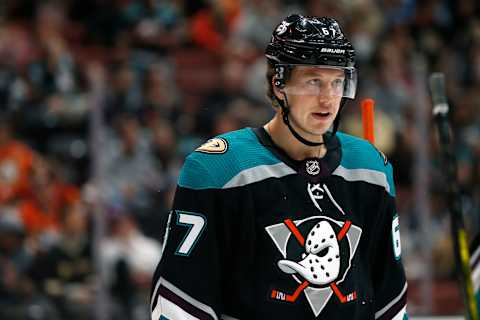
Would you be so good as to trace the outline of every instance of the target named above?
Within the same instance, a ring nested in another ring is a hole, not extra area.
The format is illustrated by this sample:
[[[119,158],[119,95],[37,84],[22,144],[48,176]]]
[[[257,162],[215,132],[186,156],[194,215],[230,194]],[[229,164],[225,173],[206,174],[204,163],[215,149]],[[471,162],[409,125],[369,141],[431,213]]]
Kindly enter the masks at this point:
[[[461,314],[427,77],[453,109],[470,240],[480,220],[475,0],[0,1],[0,318],[148,319],[185,155],[273,114],[264,48],[290,13],[337,18],[359,94],[341,130],[393,163],[411,315]]]

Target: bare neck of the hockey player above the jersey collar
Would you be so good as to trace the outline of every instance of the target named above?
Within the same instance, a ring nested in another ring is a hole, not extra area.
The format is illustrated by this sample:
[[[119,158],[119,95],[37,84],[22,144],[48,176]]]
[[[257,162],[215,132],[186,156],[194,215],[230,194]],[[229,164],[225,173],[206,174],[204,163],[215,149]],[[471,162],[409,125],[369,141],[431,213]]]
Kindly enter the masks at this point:
[[[290,132],[288,127],[283,123],[281,115],[277,114],[272,120],[270,120],[264,126],[265,130],[268,132],[273,142],[283,149],[292,159],[294,160],[304,160],[306,158],[323,158],[327,153],[327,148],[325,145],[320,145],[316,147],[309,147],[302,142],[298,141]],[[305,139],[320,142],[321,140],[318,137],[309,136],[303,132],[299,132],[297,128],[294,128],[300,133]]]

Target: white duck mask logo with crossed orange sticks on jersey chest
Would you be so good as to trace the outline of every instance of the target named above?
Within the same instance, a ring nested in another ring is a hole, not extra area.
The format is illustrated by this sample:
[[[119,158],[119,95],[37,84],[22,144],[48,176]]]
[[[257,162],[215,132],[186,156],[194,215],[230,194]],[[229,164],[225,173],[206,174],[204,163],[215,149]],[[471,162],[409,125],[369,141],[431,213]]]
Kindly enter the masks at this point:
[[[362,229],[348,220],[313,216],[295,221],[286,219],[265,230],[284,257],[277,262],[278,267],[298,284],[292,293],[281,288],[272,290],[272,299],[294,303],[304,293],[315,316],[333,294],[341,303],[356,300],[355,291],[340,289],[339,285],[350,269]]]

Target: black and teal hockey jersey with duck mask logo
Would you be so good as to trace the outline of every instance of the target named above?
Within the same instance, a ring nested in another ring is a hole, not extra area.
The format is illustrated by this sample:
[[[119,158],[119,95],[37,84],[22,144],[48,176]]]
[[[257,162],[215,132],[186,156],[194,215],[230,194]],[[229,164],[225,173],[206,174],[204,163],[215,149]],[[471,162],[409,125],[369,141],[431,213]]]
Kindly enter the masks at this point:
[[[392,167],[365,140],[327,141],[297,162],[245,128],[187,157],[152,319],[407,318]]]

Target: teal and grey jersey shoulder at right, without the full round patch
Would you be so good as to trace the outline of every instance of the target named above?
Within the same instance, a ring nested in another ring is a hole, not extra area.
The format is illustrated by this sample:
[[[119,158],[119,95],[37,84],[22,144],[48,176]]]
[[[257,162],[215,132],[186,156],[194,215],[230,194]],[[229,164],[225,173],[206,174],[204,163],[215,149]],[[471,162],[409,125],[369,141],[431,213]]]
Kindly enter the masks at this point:
[[[342,132],[337,136],[342,146],[342,161],[337,171],[343,170],[348,172],[348,177],[364,177],[367,182],[382,185],[394,197],[393,168],[385,155],[367,140]]]

